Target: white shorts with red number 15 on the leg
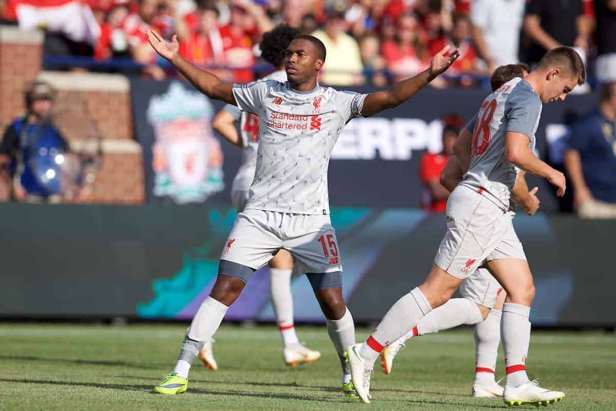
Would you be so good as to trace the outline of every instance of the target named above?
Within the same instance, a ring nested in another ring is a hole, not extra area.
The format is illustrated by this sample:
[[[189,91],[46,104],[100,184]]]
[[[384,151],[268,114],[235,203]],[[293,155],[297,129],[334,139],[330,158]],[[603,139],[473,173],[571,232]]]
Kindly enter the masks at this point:
[[[238,214],[221,260],[259,269],[280,250],[293,255],[297,273],[342,271],[336,231],[329,215],[247,209]]]

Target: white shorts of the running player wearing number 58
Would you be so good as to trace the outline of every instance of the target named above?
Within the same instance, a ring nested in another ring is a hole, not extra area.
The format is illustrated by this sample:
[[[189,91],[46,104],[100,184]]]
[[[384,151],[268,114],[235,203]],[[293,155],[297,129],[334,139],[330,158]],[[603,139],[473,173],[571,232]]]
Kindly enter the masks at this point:
[[[447,233],[434,263],[465,279],[485,261],[525,260],[512,214],[468,186],[458,185],[447,200]]]

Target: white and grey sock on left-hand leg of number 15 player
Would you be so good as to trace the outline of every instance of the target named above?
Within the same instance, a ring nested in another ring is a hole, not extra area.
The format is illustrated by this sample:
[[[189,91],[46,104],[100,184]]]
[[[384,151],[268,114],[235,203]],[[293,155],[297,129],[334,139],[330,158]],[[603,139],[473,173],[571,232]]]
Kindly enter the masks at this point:
[[[199,311],[193,317],[193,321],[190,323],[190,328],[184,343],[182,344],[182,351],[180,351],[180,357],[177,360],[174,372],[177,372],[184,378],[188,378],[188,371],[190,366],[197,357],[199,349],[203,346],[203,341],[208,341],[212,338],[218,327],[221,326],[222,318],[227,313],[227,307],[218,300],[214,300],[212,297],[206,298]]]

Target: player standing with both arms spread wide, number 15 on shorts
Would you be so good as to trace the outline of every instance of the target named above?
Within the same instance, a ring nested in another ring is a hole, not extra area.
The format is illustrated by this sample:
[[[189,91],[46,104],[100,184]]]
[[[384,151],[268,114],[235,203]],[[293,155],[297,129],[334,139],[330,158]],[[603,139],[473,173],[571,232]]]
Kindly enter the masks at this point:
[[[306,273],[326,318],[328,333],[342,364],[342,383],[355,394],[344,363],[344,351],[355,343],[351,313],[342,297],[342,264],[330,223],[327,168],[344,125],[371,116],[413,97],[458,57],[445,47],[423,73],[371,94],[340,92],[317,84],[325,64],[325,46],[314,36],[298,36],[286,51],[288,81],[225,84],[214,74],[182,58],[176,36],[165,42],[148,31],[152,47],[169,60],[193,86],[210,98],[237,105],[259,116],[259,147],[254,180],[245,210],[238,215],[222,251],[218,277],[184,339],[172,373],[156,393],[186,391],[188,370],[203,341],[216,332],[229,306],[248,278],[280,249],[293,255],[298,272]]]

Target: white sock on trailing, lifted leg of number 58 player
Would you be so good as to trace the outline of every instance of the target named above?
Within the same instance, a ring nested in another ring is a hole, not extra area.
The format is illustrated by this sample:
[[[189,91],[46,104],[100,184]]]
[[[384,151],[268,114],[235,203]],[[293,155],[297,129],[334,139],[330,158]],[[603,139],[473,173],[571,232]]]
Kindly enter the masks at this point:
[[[418,287],[396,301],[360,348],[366,365],[371,367],[383,348],[413,329],[430,311],[432,307]]]

